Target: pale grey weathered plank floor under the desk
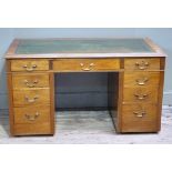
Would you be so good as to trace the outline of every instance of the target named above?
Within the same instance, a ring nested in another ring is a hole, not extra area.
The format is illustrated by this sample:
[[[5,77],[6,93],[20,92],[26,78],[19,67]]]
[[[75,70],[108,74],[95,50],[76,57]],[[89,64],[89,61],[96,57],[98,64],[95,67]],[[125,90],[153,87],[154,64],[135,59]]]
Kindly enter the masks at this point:
[[[53,136],[9,135],[8,115],[0,114],[1,144],[151,144],[172,143],[172,107],[163,107],[162,129],[159,133],[117,134],[108,111],[57,112]]]

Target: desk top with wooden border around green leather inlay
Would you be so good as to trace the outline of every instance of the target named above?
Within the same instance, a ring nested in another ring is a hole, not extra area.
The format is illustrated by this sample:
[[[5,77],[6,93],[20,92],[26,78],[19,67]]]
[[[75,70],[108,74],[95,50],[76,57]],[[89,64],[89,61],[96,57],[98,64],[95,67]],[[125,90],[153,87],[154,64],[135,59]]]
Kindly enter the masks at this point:
[[[166,57],[150,39],[16,39],[6,58]]]

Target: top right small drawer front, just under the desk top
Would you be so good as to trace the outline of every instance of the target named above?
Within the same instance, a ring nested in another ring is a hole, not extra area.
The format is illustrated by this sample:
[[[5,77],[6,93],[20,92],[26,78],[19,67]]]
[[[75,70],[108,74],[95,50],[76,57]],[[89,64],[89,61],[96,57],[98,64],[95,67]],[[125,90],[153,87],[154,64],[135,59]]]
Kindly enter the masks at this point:
[[[125,70],[160,70],[160,59],[124,59]]]

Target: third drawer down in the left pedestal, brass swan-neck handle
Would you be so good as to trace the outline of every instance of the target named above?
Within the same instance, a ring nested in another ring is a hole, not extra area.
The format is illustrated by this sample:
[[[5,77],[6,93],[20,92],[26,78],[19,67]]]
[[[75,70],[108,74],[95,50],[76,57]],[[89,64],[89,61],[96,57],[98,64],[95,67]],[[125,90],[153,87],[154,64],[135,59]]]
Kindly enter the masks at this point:
[[[50,104],[50,90],[14,90],[13,104],[14,107]]]

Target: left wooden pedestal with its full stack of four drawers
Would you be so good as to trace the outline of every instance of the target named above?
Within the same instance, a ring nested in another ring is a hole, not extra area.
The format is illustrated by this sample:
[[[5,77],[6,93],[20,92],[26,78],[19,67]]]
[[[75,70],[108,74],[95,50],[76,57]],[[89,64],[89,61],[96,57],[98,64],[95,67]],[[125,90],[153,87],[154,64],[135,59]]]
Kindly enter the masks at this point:
[[[53,73],[48,60],[8,60],[11,135],[54,133]]]

